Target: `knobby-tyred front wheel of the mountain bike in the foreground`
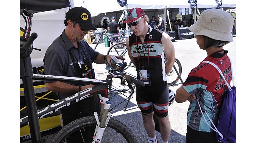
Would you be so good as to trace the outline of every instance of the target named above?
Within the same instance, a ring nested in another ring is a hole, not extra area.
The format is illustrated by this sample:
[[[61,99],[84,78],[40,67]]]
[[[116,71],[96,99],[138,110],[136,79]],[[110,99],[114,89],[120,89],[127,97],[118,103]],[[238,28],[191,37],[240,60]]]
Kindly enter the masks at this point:
[[[99,118],[101,120],[101,118]],[[87,116],[80,119],[77,119],[68,125],[64,126],[53,138],[53,143],[69,143],[66,138],[69,135],[78,133],[82,143],[88,143],[86,140],[86,129],[88,127],[92,127],[95,129],[97,125],[96,119],[94,116]],[[103,137],[101,139],[101,143],[137,143],[133,132],[122,122],[119,120],[114,119],[113,117],[110,118],[108,125],[103,133]],[[89,141],[92,143],[92,140]]]

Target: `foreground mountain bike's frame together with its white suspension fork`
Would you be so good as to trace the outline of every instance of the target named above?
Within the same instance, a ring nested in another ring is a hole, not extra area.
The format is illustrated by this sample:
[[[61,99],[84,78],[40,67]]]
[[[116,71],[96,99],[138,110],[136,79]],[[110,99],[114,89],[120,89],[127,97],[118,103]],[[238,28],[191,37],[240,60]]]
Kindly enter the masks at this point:
[[[47,80],[47,81],[62,81],[62,82],[75,82],[81,84],[95,84],[95,87],[87,88],[86,90],[80,91],[76,94],[73,94],[65,99],[62,99],[52,105],[48,105],[47,107],[37,111],[37,116],[39,119],[47,117],[50,114],[58,112],[62,108],[72,105],[73,103],[80,102],[91,95],[100,94],[101,98],[103,99],[103,106],[101,108],[100,116],[101,122],[98,120],[98,114],[94,112],[95,119],[97,120],[98,126],[95,129],[95,135],[93,140],[100,143],[102,138],[103,132],[108,125],[109,119],[111,114],[109,112],[109,108],[111,105],[109,94],[111,92],[112,86],[112,78],[120,78],[125,79],[125,73],[117,73],[115,70],[109,70],[109,75],[107,76],[106,80],[98,80],[98,79],[86,79],[86,78],[73,78],[73,77],[66,77],[66,76],[53,76],[53,75],[33,75],[33,79],[37,80]],[[131,87],[131,85],[130,85]],[[28,125],[28,116],[23,117],[20,119],[20,127]]]

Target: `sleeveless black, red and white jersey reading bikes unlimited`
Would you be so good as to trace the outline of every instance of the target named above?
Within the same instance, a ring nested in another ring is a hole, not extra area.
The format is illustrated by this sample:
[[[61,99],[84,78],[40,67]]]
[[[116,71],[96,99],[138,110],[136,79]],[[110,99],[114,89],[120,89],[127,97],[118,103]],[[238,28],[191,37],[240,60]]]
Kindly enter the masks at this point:
[[[164,65],[164,48],[161,41],[162,31],[149,28],[150,32],[147,33],[143,44],[135,34],[129,37],[131,54],[136,68],[149,69],[151,82],[164,82],[167,81],[167,76]],[[137,77],[139,78],[138,70]]]

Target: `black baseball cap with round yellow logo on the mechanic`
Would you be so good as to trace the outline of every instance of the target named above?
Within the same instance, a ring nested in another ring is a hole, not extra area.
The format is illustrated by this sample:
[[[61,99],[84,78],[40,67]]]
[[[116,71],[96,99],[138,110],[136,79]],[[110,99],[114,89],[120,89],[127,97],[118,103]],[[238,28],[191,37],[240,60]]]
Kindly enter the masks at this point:
[[[79,24],[84,31],[96,30],[97,28],[92,24],[91,13],[83,7],[75,7],[66,13],[66,20],[71,20]]]

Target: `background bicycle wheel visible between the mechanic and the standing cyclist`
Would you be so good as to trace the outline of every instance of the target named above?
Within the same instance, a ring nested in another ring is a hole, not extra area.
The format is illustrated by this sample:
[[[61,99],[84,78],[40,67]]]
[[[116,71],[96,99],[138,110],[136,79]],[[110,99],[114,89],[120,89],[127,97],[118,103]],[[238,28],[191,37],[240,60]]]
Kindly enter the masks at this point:
[[[114,44],[109,48],[107,55],[120,56],[122,58],[125,58],[125,62],[127,62],[127,65],[130,66],[132,64],[125,43]],[[129,66],[125,67],[123,70],[129,68]]]

